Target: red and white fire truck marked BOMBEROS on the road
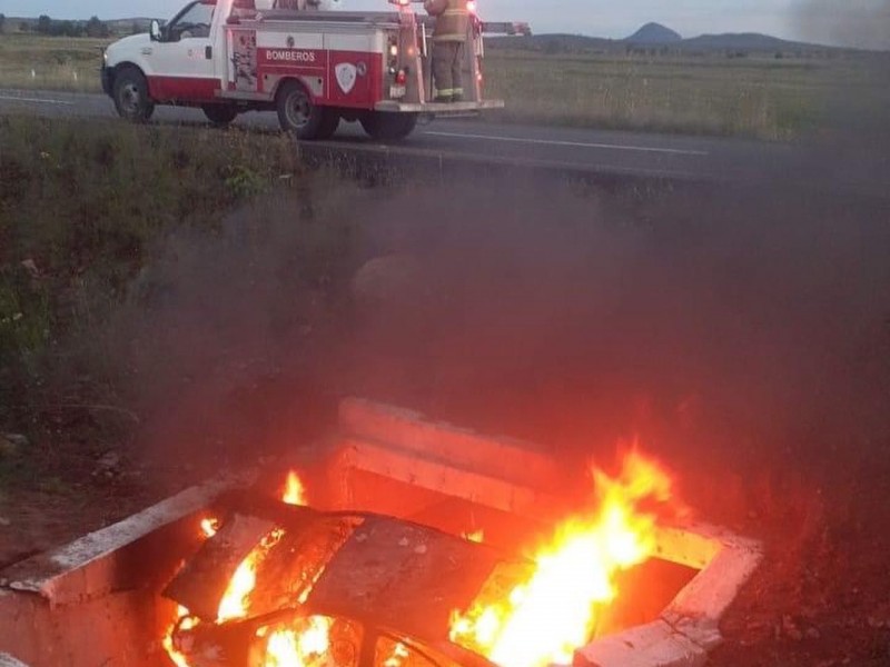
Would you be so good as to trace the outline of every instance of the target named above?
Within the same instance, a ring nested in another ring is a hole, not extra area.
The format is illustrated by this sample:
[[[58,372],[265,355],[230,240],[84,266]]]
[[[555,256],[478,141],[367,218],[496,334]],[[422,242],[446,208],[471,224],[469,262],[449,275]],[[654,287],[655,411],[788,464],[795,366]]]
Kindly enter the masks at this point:
[[[526,23],[485,23],[471,0],[464,100],[434,102],[429,17],[423,0],[390,11],[345,11],[342,0],[194,0],[150,32],[102,53],[102,88],[118,113],[145,122],[156,104],[198,107],[215,125],[276,111],[299,139],[327,139],[342,120],[375,139],[400,139],[418,118],[504,106],[484,98],[483,36],[527,34]]]

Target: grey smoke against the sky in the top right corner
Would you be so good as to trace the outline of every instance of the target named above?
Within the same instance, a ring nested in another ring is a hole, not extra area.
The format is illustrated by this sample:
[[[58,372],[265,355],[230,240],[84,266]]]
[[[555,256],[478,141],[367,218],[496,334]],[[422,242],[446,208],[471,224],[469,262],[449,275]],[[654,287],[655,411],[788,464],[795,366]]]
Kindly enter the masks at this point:
[[[890,0],[804,0],[794,6],[793,22],[809,41],[890,50]]]

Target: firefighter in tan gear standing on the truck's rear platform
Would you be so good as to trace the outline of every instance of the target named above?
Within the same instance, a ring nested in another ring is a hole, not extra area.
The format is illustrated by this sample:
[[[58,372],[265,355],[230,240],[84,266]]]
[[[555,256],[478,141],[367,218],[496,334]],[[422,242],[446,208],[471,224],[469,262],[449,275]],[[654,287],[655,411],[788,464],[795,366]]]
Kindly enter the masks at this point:
[[[436,102],[459,102],[464,98],[461,70],[469,26],[467,0],[426,0],[424,9],[436,17],[433,29],[433,80]]]

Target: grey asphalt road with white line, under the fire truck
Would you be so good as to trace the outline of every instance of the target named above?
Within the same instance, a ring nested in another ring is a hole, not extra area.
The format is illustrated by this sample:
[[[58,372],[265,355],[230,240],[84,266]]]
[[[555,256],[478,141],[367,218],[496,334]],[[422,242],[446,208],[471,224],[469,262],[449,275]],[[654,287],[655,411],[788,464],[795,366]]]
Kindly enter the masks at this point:
[[[0,113],[116,119],[103,94],[0,90]],[[200,110],[159,107],[161,123],[204,123]],[[123,122],[123,121],[119,121]],[[271,112],[248,112],[238,125],[277,129]],[[342,123],[329,142],[344,151],[384,150],[358,123]],[[890,182],[880,152],[791,146],[740,139],[619,132],[577,128],[498,125],[478,119],[435,120],[389,151],[416,156],[465,157],[494,163],[590,171],[610,176],[666,177],[726,182],[775,181],[883,193]]]

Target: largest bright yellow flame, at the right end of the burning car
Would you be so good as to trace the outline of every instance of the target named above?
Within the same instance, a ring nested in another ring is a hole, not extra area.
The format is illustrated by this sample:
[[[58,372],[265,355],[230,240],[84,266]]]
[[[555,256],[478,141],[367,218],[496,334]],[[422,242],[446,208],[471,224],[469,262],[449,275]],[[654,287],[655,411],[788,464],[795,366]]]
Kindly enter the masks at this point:
[[[593,476],[595,511],[560,525],[532,558],[532,576],[505,599],[455,611],[452,641],[502,667],[571,664],[595,629],[597,606],[614,599],[615,575],[655,548],[655,517],[640,505],[671,496],[670,477],[635,451],[616,479],[595,469]]]

